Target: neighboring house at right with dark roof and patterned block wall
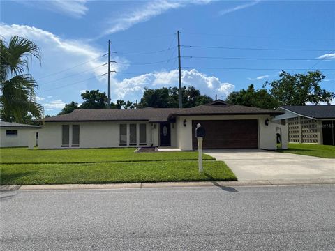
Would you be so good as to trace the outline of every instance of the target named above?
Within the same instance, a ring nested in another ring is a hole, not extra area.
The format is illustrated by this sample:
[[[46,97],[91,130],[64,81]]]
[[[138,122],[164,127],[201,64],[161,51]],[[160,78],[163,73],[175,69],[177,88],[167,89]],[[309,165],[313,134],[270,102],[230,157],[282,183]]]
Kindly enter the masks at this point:
[[[282,106],[276,116],[288,126],[288,140],[294,143],[335,145],[335,105]]]

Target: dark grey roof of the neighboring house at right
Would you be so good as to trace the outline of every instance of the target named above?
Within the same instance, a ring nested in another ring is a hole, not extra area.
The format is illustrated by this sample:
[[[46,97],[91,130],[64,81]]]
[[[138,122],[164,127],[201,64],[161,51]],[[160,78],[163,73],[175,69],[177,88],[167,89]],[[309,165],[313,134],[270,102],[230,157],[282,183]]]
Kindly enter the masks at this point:
[[[335,119],[335,105],[285,105],[278,109],[313,119]]]

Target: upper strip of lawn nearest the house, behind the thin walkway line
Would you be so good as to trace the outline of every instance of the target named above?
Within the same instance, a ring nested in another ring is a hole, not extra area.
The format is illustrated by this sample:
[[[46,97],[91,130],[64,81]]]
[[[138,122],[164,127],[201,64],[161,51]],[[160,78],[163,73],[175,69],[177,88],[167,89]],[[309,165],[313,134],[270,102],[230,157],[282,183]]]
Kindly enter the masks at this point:
[[[152,160],[198,160],[198,152],[154,152],[134,153],[133,148],[121,149],[59,149],[29,150],[27,148],[0,149],[2,164],[8,163],[87,163],[87,162],[128,162]],[[214,160],[203,155],[204,160]]]

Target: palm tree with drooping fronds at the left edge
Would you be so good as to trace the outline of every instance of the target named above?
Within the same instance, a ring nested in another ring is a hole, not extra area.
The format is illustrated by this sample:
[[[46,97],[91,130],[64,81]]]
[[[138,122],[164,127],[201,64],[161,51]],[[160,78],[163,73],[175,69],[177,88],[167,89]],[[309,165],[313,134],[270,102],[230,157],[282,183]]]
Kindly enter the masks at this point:
[[[40,61],[40,50],[27,38],[13,36],[9,44],[0,38],[0,109],[3,121],[27,122],[43,117],[43,106],[36,102],[34,78],[27,73],[29,59]]]

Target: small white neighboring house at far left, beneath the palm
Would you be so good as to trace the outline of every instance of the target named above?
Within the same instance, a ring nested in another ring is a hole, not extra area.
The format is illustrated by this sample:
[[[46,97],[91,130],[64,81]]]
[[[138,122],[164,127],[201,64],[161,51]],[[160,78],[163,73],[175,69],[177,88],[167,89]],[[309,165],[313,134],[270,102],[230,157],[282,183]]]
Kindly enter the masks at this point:
[[[36,145],[37,132],[40,127],[0,121],[0,129],[1,147],[34,147]]]

